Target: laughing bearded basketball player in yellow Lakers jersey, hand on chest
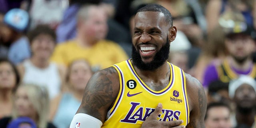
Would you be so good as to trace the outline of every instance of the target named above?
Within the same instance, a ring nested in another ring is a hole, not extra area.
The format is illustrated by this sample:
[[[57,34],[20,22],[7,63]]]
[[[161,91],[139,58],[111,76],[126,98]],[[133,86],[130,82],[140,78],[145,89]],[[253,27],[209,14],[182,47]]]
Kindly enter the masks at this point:
[[[167,62],[176,31],[166,8],[139,9],[132,59],[92,76],[70,128],[204,128],[202,84]]]

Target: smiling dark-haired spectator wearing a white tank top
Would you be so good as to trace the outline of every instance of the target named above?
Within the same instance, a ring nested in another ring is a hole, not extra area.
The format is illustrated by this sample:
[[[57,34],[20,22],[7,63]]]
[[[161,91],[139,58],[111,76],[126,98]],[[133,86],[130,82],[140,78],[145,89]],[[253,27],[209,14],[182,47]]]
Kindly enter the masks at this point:
[[[56,45],[56,34],[47,25],[39,25],[28,33],[32,56],[18,66],[23,83],[46,86],[50,98],[61,90],[64,72],[50,62]]]

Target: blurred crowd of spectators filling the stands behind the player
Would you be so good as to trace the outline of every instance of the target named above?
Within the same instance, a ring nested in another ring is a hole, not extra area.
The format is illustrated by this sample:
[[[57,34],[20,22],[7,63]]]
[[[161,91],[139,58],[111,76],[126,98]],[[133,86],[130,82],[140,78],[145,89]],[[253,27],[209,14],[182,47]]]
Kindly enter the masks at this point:
[[[0,128],[69,128],[152,3],[178,29],[168,62],[204,86],[206,128],[256,128],[256,0],[0,0]]]

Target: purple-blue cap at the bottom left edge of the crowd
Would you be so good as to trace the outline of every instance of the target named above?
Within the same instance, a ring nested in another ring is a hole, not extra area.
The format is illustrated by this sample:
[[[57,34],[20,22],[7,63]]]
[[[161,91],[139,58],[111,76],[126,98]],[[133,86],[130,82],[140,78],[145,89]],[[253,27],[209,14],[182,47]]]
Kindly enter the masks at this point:
[[[6,128],[19,128],[20,124],[23,124],[23,123],[30,124],[31,128],[37,128],[36,123],[31,118],[28,118],[28,117],[16,118],[15,120],[12,120],[12,122],[10,122]]]

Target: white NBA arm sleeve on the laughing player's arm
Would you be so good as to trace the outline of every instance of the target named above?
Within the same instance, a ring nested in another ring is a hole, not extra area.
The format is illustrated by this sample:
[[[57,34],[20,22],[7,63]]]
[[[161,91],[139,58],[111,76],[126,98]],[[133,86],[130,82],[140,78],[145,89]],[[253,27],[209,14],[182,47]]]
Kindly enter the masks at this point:
[[[102,122],[88,114],[78,113],[74,116],[69,128],[100,128]]]

